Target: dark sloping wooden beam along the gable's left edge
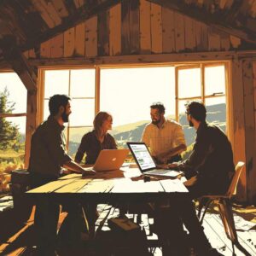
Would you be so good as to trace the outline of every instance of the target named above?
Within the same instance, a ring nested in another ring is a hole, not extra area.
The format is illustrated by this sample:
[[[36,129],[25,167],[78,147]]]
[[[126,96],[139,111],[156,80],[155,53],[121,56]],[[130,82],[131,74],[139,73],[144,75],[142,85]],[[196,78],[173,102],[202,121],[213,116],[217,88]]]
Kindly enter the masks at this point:
[[[102,0],[86,2],[84,6],[73,11],[72,15],[63,18],[60,25],[49,28],[49,30],[41,32],[40,35],[38,35],[37,37],[28,39],[25,44],[21,44],[20,50],[25,51],[26,49],[32,48],[35,44],[39,45],[49,40],[49,38],[53,38],[61,32],[67,31],[67,29],[76,26],[85,20],[90,19],[90,17],[94,15],[106,11],[113,5],[120,2],[121,0]]]

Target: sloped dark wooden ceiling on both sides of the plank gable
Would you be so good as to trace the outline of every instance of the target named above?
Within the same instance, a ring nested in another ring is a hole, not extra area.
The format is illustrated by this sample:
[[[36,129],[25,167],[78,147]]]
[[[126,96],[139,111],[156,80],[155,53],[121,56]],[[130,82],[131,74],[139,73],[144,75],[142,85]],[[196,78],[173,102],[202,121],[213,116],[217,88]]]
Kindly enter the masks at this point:
[[[256,44],[256,0],[148,1]],[[0,61],[8,60],[10,51],[37,49],[49,38],[119,2],[121,0],[2,0]]]

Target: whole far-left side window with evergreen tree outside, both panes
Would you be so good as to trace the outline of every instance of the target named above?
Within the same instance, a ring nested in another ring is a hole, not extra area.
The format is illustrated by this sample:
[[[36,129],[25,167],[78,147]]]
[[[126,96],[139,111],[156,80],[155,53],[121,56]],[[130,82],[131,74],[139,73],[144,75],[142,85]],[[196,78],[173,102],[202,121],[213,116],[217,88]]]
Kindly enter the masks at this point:
[[[0,73],[0,193],[6,173],[24,167],[26,87],[16,73]]]

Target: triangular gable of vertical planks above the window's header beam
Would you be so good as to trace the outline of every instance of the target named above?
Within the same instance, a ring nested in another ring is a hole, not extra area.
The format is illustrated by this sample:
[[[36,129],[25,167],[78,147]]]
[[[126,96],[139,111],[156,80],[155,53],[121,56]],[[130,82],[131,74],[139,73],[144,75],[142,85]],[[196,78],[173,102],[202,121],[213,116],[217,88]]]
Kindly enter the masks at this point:
[[[57,22],[58,20],[55,20]],[[236,49],[239,38],[146,0],[127,0],[40,46],[40,58]],[[25,53],[36,58],[33,50]]]

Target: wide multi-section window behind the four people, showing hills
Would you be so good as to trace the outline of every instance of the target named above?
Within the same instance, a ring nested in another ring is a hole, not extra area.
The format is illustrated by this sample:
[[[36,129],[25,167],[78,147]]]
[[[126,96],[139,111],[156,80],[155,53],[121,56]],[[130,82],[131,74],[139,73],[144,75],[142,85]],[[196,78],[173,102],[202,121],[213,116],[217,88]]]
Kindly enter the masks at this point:
[[[150,105],[163,102],[166,117],[183,125],[186,143],[192,148],[195,131],[187,124],[184,104],[204,102],[207,120],[226,131],[226,77],[224,63],[45,70],[44,119],[49,115],[49,96],[65,93],[73,98],[66,131],[70,154],[75,154],[81,137],[92,129],[98,110],[113,115],[111,133],[123,148],[127,141],[141,140],[150,122]]]

